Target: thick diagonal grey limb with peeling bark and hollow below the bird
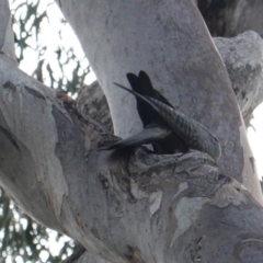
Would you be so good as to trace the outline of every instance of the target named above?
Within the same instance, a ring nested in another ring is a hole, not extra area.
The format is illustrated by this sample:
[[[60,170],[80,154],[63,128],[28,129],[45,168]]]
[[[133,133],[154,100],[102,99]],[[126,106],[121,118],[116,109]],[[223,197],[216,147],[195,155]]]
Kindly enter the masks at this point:
[[[12,84],[0,85],[1,185],[33,218],[108,262],[208,261],[215,251],[237,262],[250,240],[261,242],[262,207],[210,157],[98,151],[111,135],[70,99],[0,61],[12,72]]]

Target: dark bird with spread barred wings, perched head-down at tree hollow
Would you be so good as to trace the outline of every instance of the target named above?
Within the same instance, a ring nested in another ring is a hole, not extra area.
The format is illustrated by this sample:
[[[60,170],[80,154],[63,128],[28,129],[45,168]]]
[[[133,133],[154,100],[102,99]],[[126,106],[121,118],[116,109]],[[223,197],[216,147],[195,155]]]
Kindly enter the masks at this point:
[[[103,147],[104,150],[152,144],[156,153],[186,152],[188,149],[206,152],[215,160],[220,157],[218,139],[202,124],[175,111],[168,100],[152,88],[146,72],[137,77],[127,73],[133,91],[115,83],[136,96],[137,110],[144,124],[144,129]]]

